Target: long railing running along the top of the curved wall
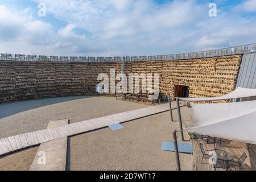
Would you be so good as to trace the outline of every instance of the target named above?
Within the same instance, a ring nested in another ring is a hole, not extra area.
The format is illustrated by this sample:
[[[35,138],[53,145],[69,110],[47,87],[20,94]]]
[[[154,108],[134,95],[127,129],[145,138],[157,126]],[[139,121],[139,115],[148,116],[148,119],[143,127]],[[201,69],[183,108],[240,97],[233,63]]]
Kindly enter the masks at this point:
[[[119,62],[119,61],[167,61],[200,59],[207,57],[229,56],[243,53],[256,52],[256,43],[243,46],[212,49],[208,51],[175,53],[171,55],[156,56],[115,56],[115,57],[84,57],[84,56],[46,56],[46,55],[21,55],[1,53],[0,61],[52,61],[52,62]]]

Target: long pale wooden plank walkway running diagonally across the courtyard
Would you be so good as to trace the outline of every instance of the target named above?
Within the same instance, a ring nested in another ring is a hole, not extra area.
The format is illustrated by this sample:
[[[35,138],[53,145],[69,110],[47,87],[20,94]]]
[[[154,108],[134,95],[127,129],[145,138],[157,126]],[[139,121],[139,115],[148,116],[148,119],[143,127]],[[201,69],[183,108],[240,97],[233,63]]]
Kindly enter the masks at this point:
[[[172,109],[176,109],[175,102],[172,102]],[[40,143],[61,139],[63,137],[71,137],[73,135],[108,127],[114,123],[133,121],[135,119],[163,113],[168,110],[170,110],[168,104],[144,107],[142,109],[126,111],[105,117],[71,123],[64,126],[56,126],[44,130],[15,135],[13,137],[2,138],[0,139],[0,156],[7,155],[27,147],[37,146]]]

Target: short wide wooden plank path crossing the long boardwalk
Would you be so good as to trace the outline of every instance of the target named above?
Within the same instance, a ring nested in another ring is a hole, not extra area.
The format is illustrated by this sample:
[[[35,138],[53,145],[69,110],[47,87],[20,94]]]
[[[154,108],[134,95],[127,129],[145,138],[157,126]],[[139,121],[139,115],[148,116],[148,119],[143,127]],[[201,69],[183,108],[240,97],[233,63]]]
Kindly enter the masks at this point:
[[[68,124],[68,119],[50,121],[47,129]],[[57,137],[56,133],[52,133]],[[36,138],[36,136],[35,136]],[[65,171],[68,137],[41,143],[31,164],[30,171]],[[44,159],[45,158],[45,161]],[[44,163],[45,162],[45,163]]]

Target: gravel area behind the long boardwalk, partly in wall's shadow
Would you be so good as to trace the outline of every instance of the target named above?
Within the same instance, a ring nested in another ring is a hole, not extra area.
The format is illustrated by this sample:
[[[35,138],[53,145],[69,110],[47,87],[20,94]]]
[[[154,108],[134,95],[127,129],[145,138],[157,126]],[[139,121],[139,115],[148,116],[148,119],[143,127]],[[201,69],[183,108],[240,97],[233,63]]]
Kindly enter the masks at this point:
[[[57,103],[57,104],[56,104]],[[0,105],[0,138],[46,129],[53,119],[84,121],[148,105],[115,100],[115,97],[60,97]],[[34,109],[33,109],[34,108]],[[12,115],[10,115],[12,114]],[[8,115],[6,117],[3,117]]]

